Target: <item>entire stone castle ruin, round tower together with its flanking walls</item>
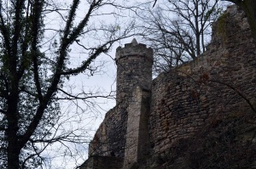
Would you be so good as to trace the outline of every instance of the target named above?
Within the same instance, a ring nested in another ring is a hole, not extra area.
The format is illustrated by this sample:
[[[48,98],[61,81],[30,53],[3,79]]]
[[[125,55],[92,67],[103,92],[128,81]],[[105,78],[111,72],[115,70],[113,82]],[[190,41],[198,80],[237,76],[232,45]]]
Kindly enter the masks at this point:
[[[142,128],[148,127],[150,155],[161,155],[179,140],[207,130],[218,119],[225,119],[236,112],[249,114],[252,109],[248,102],[255,107],[256,48],[245,15],[234,6],[228,8],[228,12],[213,25],[212,42],[207,52],[154,79],[148,117],[140,116],[142,97],[131,93],[137,86],[141,89],[151,87],[147,80],[151,81],[151,76],[144,76],[150,65],[149,53],[140,55],[138,51],[144,49],[134,48],[132,44],[126,47],[127,50],[117,49],[118,104],[108,111],[97,130],[90,143],[90,155],[115,155],[126,158],[125,161],[131,157],[131,161],[137,161],[138,149],[145,145],[143,138],[148,139],[147,133],[142,132],[146,130],[140,131],[141,120]],[[130,51],[130,47],[135,53]],[[125,57],[120,57],[122,55]],[[146,67],[143,67],[143,62]],[[138,72],[136,67],[140,67]],[[148,110],[145,113],[148,114]],[[127,144],[132,141],[136,141],[137,146],[129,150]]]

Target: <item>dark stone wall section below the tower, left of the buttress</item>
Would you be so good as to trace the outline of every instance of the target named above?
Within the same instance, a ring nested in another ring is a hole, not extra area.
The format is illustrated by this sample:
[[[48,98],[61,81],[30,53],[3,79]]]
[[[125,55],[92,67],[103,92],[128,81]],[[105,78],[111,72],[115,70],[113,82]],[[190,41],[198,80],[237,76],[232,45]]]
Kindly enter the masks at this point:
[[[89,156],[124,157],[127,112],[123,107],[116,106],[105,115],[104,121],[97,129],[89,145]]]

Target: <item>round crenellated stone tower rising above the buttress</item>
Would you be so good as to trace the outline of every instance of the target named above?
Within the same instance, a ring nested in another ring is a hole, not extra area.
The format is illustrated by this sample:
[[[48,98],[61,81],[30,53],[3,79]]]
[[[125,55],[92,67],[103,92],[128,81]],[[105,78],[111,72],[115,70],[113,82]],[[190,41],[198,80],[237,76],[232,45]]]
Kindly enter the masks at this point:
[[[133,88],[151,89],[153,49],[134,38],[125,48],[116,49],[117,104],[131,97]]]

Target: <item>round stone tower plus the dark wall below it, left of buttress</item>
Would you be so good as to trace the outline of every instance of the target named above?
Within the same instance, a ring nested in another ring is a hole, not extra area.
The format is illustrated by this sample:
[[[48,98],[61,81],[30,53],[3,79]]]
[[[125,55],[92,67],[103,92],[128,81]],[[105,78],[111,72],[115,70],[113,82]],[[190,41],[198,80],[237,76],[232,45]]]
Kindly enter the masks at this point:
[[[109,110],[90,142],[89,155],[124,157],[127,111],[131,93],[137,86],[150,90],[152,82],[153,50],[133,39],[125,48],[116,50],[117,106]]]

